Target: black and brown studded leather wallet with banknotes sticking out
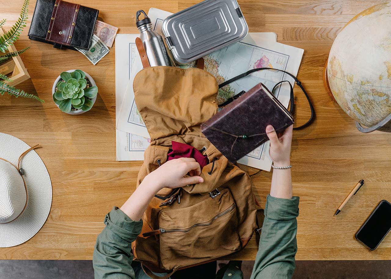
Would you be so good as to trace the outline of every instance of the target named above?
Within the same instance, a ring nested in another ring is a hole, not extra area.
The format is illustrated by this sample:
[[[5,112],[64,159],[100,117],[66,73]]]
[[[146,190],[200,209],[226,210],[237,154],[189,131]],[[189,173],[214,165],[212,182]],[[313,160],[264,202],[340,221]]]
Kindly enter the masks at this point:
[[[55,48],[88,50],[99,10],[62,0],[37,0],[29,38]]]

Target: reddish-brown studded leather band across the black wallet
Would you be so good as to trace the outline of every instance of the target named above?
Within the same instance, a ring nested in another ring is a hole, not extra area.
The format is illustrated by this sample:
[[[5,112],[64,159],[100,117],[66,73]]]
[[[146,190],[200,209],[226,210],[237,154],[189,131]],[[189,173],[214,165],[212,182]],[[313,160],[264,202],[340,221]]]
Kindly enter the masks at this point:
[[[69,46],[75,30],[79,9],[79,4],[56,0],[46,34],[47,41]]]

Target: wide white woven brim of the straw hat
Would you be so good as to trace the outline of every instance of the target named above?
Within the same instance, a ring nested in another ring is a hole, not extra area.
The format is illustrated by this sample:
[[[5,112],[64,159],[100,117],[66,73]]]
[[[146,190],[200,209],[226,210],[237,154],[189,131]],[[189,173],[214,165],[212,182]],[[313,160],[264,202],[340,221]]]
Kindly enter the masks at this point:
[[[17,165],[19,156],[29,149],[24,141],[9,134],[0,133],[0,158]],[[32,238],[45,224],[52,205],[52,182],[39,155],[30,150],[23,156],[20,167],[27,188],[27,206],[15,220],[0,223],[0,247],[12,247]]]

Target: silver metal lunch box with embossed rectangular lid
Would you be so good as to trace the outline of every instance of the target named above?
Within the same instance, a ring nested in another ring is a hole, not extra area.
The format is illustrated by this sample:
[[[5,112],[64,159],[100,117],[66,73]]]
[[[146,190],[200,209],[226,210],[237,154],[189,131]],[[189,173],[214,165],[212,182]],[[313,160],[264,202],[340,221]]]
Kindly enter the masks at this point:
[[[186,64],[246,37],[236,0],[205,0],[168,16],[162,25],[176,63]]]

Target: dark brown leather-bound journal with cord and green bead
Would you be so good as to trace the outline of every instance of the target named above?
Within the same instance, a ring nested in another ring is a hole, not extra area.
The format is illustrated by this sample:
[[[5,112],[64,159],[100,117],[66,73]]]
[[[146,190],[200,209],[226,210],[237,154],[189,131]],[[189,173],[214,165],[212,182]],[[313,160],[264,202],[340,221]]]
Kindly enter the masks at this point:
[[[268,140],[267,125],[278,132],[293,123],[292,114],[260,83],[202,123],[201,131],[228,160],[236,162]]]

